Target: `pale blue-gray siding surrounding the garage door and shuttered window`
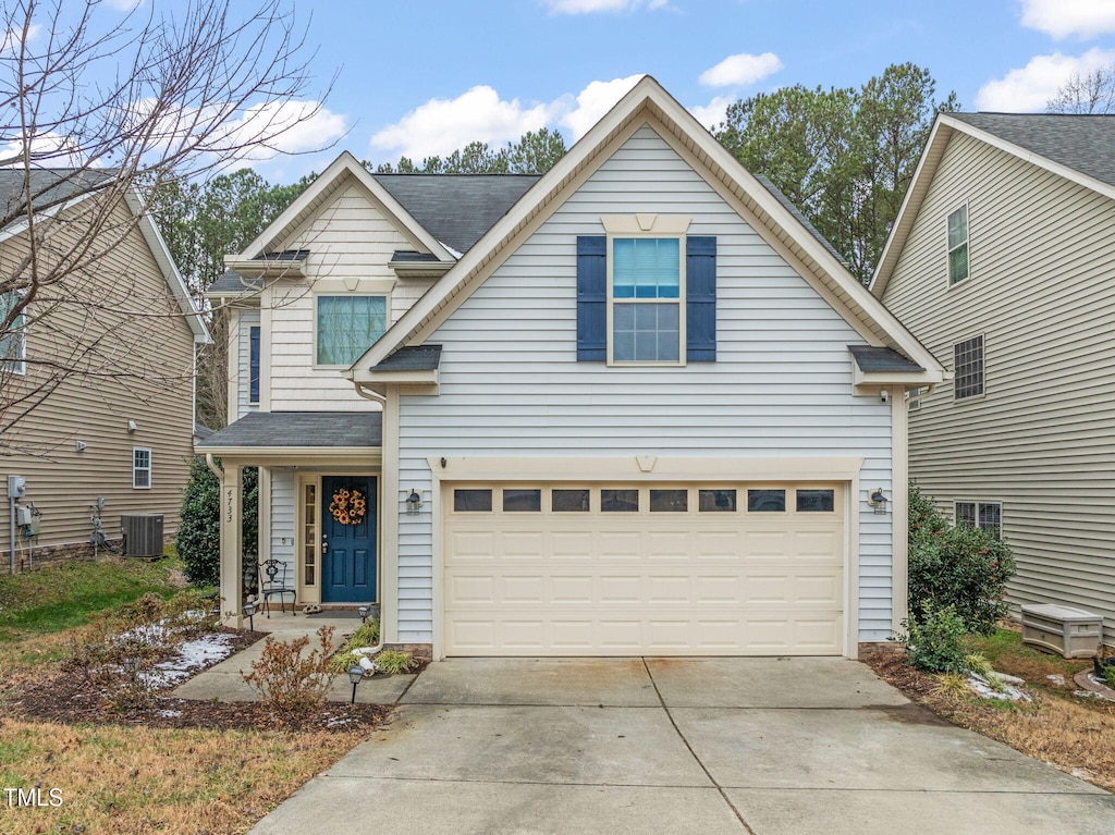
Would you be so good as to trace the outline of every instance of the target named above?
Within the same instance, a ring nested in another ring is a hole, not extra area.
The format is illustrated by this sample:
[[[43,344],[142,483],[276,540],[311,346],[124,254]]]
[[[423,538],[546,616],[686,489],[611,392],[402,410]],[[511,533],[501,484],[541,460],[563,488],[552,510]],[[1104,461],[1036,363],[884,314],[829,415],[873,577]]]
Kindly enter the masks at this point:
[[[717,236],[718,361],[575,362],[575,247],[602,214],[692,215]],[[399,484],[427,456],[863,456],[891,487],[890,408],[852,397],[863,340],[657,134],[644,127],[428,340],[440,395],[400,400]],[[863,507],[852,496],[856,506]],[[435,497],[437,501],[437,497]],[[890,516],[860,517],[860,639],[891,631]],[[399,635],[432,640],[432,517],[399,516]]]

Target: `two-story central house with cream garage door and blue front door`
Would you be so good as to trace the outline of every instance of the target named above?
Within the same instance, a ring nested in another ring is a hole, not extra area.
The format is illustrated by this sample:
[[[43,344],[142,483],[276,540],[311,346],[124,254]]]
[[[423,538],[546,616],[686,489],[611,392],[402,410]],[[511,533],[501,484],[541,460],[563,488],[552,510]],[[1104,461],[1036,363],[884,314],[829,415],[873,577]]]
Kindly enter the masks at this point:
[[[299,603],[435,658],[855,657],[904,616],[942,369],[653,79],[536,179],[342,155],[230,268],[230,620],[256,465]]]

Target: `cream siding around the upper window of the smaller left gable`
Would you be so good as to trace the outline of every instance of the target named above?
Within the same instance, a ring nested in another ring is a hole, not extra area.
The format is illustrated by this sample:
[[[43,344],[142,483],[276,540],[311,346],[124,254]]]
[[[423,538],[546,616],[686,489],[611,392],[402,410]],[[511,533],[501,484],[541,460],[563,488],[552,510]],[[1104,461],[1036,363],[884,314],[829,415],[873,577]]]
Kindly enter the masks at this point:
[[[351,185],[283,247],[310,251],[309,278],[281,282],[261,300],[269,320],[264,323],[271,360],[271,411],[375,408],[337,369],[313,367],[313,297],[316,292],[384,293],[395,321],[420,292],[416,293],[418,288],[411,283],[396,293],[395,273],[387,263],[396,250],[419,245],[384,216],[363,188]]]

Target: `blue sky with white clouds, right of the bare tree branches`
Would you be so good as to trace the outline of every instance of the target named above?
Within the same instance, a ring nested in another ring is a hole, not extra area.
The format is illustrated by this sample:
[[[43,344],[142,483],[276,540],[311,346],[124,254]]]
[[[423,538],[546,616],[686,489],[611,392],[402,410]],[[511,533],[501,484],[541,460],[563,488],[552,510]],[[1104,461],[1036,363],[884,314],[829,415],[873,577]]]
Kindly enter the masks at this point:
[[[320,171],[342,148],[417,162],[542,126],[572,144],[641,74],[714,125],[738,98],[859,87],[904,61],[966,110],[1041,110],[1070,72],[1115,62],[1115,0],[284,1],[318,48],[319,95],[338,77],[314,120],[282,144],[336,144],[254,162],[272,182]]]

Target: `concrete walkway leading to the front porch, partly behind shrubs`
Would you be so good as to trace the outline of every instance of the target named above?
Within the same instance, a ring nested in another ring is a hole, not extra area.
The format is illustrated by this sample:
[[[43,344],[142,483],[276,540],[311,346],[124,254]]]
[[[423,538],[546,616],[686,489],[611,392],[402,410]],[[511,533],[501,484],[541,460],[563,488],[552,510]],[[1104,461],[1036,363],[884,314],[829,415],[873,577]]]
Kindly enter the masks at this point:
[[[292,641],[302,635],[310,637],[308,649],[317,649],[318,635],[322,627],[333,628],[332,649],[337,649],[347,635],[360,627],[359,618],[313,615],[292,615],[290,612],[272,612],[270,618],[255,615],[254,627],[260,632],[271,632],[278,640]],[[260,693],[244,681],[242,673],[252,671],[252,662],[258,661],[263,653],[264,641],[256,641],[245,650],[226,658],[204,672],[200,672],[188,681],[171,691],[171,696],[180,699],[196,699],[198,701],[258,701]],[[370,705],[394,705],[414,682],[414,676],[390,676],[365,679],[357,687],[356,700]],[[349,701],[352,698],[352,684],[348,676],[338,676],[329,690],[330,701]]]

